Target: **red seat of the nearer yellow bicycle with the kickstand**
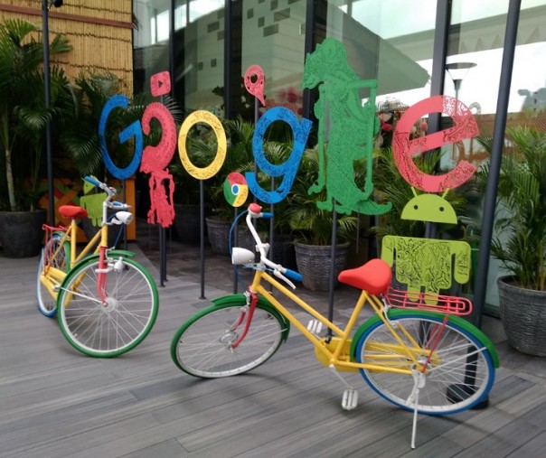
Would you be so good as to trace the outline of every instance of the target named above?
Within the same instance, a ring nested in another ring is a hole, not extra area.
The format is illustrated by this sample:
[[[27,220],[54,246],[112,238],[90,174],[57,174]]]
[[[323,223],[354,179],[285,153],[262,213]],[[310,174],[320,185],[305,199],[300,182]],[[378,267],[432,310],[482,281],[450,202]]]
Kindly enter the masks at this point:
[[[382,259],[371,259],[363,266],[342,271],[337,279],[368,293],[381,294],[391,285],[391,266]]]

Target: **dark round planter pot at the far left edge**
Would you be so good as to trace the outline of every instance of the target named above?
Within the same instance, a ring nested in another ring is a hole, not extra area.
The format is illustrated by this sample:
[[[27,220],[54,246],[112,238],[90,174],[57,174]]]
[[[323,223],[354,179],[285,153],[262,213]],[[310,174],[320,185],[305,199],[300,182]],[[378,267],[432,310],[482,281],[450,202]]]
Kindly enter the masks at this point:
[[[33,257],[42,249],[46,210],[0,211],[0,243],[6,257]]]

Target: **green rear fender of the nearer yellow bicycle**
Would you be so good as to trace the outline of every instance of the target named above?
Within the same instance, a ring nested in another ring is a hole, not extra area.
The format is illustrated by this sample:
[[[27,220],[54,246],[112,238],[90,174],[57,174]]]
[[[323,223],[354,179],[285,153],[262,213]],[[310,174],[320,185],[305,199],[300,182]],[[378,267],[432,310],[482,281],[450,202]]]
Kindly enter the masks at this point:
[[[423,316],[423,317],[443,317],[441,313],[434,312],[423,312],[420,310],[401,310],[401,309],[391,309],[388,313],[389,317],[396,316]],[[471,322],[467,322],[465,319],[457,315],[449,315],[448,322],[457,325],[459,328],[464,329],[469,334],[472,334],[477,341],[479,341],[491,355],[491,360],[493,360],[493,365],[495,369],[500,367],[500,360],[497,351],[494,348],[493,342],[482,332],[480,329],[476,328]],[[353,341],[351,342],[351,356],[354,358],[356,353],[356,345],[364,332],[370,329],[377,322],[381,322],[381,318],[378,315],[373,315],[371,318],[362,323],[362,326],[356,330],[354,333]]]

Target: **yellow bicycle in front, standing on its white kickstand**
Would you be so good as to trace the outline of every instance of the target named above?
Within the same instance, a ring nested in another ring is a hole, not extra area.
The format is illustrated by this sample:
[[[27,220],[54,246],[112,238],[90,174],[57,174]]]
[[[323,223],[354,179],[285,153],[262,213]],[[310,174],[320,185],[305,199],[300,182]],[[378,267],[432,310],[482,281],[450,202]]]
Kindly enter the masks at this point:
[[[372,259],[338,277],[362,291],[341,329],[279,282],[294,289],[291,280],[301,276],[268,259],[268,244],[260,240],[252,219],[270,216],[258,204],[249,205],[246,221],[259,262],[244,248],[233,248],[231,260],[254,269],[252,283],[244,294],[212,301],[175,332],[171,356],[179,369],[201,378],[242,374],[268,360],[293,325],[313,343],[318,360],[340,379],[344,380],[340,372],[360,371],[378,395],[413,411],[415,418],[417,413],[454,414],[487,397],[499,360],[485,334],[457,316],[469,313],[469,301],[438,295],[438,304],[430,306],[422,294],[390,296],[391,267]],[[300,322],[268,285],[311,315],[309,325]],[[374,314],[357,327],[365,304]],[[330,335],[321,337],[322,328]],[[350,410],[357,405],[358,393],[344,383],[342,406]]]

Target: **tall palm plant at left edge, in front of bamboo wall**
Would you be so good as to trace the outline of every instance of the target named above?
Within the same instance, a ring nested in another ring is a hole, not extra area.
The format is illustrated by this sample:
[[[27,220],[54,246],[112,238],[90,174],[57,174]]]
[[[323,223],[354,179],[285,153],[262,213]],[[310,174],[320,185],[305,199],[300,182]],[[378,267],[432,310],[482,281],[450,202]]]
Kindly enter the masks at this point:
[[[27,205],[22,199],[29,195],[24,180],[28,178],[28,166],[38,173],[42,155],[36,155],[38,140],[44,131],[45,120],[54,117],[55,101],[65,79],[60,70],[52,69],[52,107],[46,110],[43,101],[42,42],[34,38],[40,28],[28,21],[6,19],[0,24],[0,147],[5,160],[5,193],[9,210],[21,210]],[[50,43],[50,53],[71,51],[70,43],[62,35],[56,35]],[[57,85],[57,82],[61,86]],[[58,90],[59,89],[59,92]],[[35,146],[29,152],[25,140]],[[31,179],[33,185],[37,177]],[[27,190],[19,192],[16,190]],[[3,192],[3,194],[5,194]],[[30,189],[35,196],[36,190]],[[32,202],[33,203],[33,202]],[[28,200],[27,200],[28,204]]]

